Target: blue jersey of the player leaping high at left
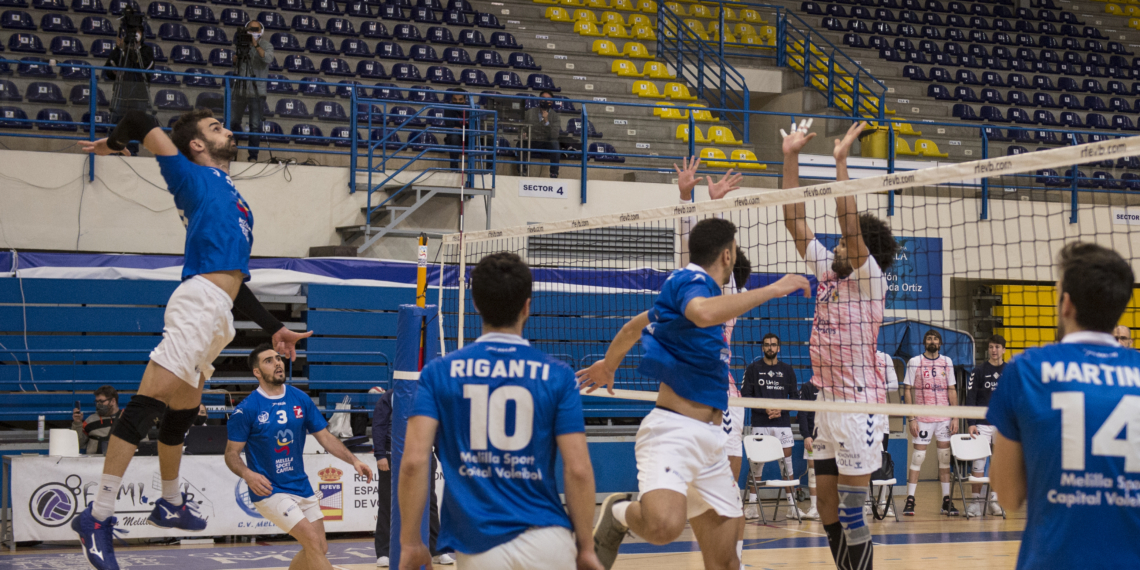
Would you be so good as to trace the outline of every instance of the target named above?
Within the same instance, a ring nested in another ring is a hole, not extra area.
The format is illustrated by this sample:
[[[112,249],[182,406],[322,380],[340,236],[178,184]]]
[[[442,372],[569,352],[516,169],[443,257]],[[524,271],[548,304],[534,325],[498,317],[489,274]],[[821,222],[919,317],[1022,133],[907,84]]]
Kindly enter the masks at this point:
[[[190,162],[181,153],[157,158],[186,226],[182,279],[233,270],[249,279],[253,212],[234,180],[221,170]]]

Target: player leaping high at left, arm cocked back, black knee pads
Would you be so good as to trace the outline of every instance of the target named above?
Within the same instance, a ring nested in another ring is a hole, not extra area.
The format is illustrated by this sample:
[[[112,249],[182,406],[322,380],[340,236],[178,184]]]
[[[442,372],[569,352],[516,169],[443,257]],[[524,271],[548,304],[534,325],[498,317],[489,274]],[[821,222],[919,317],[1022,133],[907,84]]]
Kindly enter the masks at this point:
[[[147,522],[161,528],[199,531],[206,521],[186,502],[178,467],[186,430],[198,415],[202,389],[213,375],[213,360],[234,339],[237,309],[272,335],[274,347],[293,358],[296,342],[312,333],[285,328],[258,302],[244,282],[250,278],[253,213],[229,178],[237,156],[234,133],[209,111],[192,111],[174,123],[171,136],[157,120],[132,111],[111,137],[81,141],[83,152],[105,156],[123,153],[141,140],[154,153],[174,205],[186,226],[182,283],[166,303],[162,342],[150,352],[138,391],[112,429],[103,477],[95,502],[72,520],[83,554],[96,570],[119,570],[114,552],[115,498],[123,473],[147,430],[158,425],[162,497]]]

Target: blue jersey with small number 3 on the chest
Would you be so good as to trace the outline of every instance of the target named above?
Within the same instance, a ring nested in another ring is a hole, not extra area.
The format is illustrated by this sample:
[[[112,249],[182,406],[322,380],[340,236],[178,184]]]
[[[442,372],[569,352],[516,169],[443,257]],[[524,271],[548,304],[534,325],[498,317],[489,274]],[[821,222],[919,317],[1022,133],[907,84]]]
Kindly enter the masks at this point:
[[[230,441],[245,443],[245,464],[269,480],[274,494],[311,497],[302,456],[304,435],[325,427],[328,422],[304,392],[285,386],[285,393],[274,398],[259,388],[234,409],[226,432]],[[250,500],[264,498],[250,489]]]

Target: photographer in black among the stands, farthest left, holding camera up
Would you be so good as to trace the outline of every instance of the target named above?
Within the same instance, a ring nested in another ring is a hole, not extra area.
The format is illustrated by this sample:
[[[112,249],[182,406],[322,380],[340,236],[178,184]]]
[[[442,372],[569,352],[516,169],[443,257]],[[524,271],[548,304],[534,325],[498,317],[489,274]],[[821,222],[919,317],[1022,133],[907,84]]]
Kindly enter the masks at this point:
[[[154,70],[154,49],[142,43],[146,16],[132,8],[123,10],[120,18],[119,38],[104,66],[130,70]],[[115,82],[111,100],[111,122],[119,124],[130,111],[150,109],[150,74],[141,72],[104,72],[104,78]],[[127,145],[132,155],[138,155],[137,142]]]

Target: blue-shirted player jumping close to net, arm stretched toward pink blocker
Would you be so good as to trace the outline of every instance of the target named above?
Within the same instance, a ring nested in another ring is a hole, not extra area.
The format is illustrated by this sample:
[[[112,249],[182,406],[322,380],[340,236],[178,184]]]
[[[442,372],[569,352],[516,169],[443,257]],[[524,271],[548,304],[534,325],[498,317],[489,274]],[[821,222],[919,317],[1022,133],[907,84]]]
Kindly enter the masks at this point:
[[[603,360],[578,372],[580,385],[591,392],[604,386],[612,393],[614,370],[641,339],[638,372],[661,382],[657,407],[637,430],[640,499],[606,497],[594,528],[595,549],[606,568],[627,531],[668,544],[681,536],[686,520],[705,568],[740,568],[734,543],[743,512],[720,429],[732,357],[724,324],[771,299],[811,292],[803,276],[785,276],[766,287],[722,295],[735,263],[735,237],[736,227],[720,218],[693,226],[689,266],[669,275],[653,308],[621,328]]]

